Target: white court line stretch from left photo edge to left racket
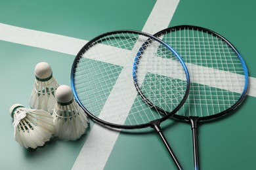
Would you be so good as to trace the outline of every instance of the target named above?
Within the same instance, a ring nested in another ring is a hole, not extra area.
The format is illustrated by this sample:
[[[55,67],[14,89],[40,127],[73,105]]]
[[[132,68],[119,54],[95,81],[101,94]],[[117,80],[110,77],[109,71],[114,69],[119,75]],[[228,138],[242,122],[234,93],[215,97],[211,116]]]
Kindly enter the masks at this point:
[[[88,42],[82,39],[35,31],[0,23],[0,40],[76,55]]]

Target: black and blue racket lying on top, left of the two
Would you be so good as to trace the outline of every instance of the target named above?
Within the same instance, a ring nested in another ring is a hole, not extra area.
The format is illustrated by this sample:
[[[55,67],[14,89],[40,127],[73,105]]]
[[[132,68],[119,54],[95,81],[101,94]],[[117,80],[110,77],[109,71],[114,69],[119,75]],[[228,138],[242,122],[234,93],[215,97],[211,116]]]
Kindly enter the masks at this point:
[[[173,48],[140,31],[104,33],[81,48],[71,81],[75,99],[95,122],[121,129],[153,127],[182,169],[160,128],[189,93],[188,70]]]

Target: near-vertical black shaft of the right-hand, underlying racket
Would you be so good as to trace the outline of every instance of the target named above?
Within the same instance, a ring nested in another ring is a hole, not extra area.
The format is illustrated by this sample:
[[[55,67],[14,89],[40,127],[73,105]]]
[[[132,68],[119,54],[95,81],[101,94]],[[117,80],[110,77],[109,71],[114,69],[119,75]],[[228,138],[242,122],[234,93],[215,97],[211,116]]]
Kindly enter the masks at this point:
[[[199,159],[198,159],[198,117],[190,117],[192,136],[193,136],[193,154],[194,154],[194,170],[199,170]]]

